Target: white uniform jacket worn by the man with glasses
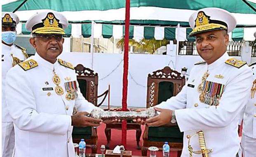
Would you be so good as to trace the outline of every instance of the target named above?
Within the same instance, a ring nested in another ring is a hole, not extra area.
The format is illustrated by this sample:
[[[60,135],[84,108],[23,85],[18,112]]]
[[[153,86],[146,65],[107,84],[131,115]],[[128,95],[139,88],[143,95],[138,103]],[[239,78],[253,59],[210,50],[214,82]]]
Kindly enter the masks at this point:
[[[15,157],[75,157],[71,116],[73,107],[90,113],[95,106],[78,91],[78,98],[65,98],[65,78],[76,81],[73,69],[44,60],[37,53],[28,58],[37,67],[23,70],[19,65],[7,73],[6,99],[10,115],[14,119]],[[60,77],[63,95],[57,95],[52,81],[53,69]],[[48,85],[47,85],[48,84]],[[77,83],[78,85],[78,83]],[[48,96],[47,93],[51,94]]]

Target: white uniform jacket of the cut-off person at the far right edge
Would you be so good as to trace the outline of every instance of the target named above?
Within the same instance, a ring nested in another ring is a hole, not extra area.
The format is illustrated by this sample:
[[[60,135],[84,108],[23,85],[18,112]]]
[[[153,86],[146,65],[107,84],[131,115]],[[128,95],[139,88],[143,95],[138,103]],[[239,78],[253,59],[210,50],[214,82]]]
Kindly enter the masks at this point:
[[[252,71],[254,73],[253,80],[255,80],[256,65],[252,65],[250,68],[252,68]],[[249,101],[246,104],[246,108],[244,111],[242,133],[248,137],[256,139],[256,95],[254,95],[254,98],[251,98],[251,95],[250,95]]]

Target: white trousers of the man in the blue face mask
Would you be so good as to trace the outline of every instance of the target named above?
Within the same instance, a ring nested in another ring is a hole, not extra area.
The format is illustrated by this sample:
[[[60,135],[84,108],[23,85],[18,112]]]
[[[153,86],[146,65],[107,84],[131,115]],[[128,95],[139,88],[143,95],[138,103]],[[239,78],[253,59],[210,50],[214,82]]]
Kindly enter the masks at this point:
[[[14,148],[13,122],[2,122],[2,157],[12,157]]]

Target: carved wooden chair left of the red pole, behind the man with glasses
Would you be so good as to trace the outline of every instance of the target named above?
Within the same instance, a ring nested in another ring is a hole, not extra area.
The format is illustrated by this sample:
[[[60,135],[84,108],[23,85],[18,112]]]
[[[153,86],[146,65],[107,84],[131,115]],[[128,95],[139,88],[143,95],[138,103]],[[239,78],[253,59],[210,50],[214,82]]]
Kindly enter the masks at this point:
[[[75,73],[77,75],[77,81],[82,95],[95,106],[100,106],[106,99],[108,90],[102,95],[98,94],[98,73],[94,73],[93,70],[84,67],[79,64],[75,67]],[[104,96],[101,103],[97,104],[98,97]],[[92,148],[92,153],[96,154],[97,151],[97,130],[94,127],[73,127],[73,142],[79,143],[80,139],[85,139],[87,145]]]

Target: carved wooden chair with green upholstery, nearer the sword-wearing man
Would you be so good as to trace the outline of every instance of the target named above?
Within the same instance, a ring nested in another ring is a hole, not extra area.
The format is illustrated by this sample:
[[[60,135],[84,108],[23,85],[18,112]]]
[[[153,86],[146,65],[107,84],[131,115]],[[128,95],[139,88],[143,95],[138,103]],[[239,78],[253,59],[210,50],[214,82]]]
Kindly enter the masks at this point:
[[[147,85],[147,108],[160,104],[181,91],[185,85],[185,76],[172,70],[170,67],[157,70],[153,74],[148,74]],[[147,150],[155,146],[162,150],[162,145],[167,141],[170,150],[178,151],[178,157],[181,156],[183,147],[183,133],[178,126],[172,127],[145,127],[143,133],[142,156],[147,156]]]

